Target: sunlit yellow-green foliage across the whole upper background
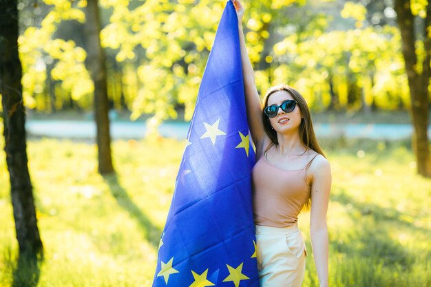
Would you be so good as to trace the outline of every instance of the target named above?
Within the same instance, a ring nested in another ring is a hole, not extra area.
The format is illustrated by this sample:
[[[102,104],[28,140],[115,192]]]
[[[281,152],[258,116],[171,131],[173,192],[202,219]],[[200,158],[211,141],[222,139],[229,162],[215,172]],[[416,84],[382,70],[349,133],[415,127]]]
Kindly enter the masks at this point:
[[[101,0],[101,42],[114,107],[127,107],[132,119],[153,115],[151,123],[176,118],[178,109],[185,109],[189,120],[225,2]],[[63,21],[85,21],[86,1],[44,3],[48,10],[41,25],[29,27],[19,39],[25,103],[49,110],[72,99],[89,109],[94,87],[85,51],[67,37],[54,39]],[[412,1],[412,10],[424,17],[426,3]],[[260,94],[288,83],[315,111],[410,105],[399,31],[369,23],[361,3],[265,0],[244,1],[244,6],[244,33]],[[419,60],[425,56],[421,41],[417,54]]]

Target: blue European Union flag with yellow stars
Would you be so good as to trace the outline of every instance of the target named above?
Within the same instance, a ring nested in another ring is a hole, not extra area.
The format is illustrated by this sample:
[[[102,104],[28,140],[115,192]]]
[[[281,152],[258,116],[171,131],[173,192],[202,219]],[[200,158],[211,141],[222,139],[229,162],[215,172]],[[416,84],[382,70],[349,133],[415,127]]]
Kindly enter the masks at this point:
[[[227,2],[202,77],[153,287],[258,287],[238,18]]]

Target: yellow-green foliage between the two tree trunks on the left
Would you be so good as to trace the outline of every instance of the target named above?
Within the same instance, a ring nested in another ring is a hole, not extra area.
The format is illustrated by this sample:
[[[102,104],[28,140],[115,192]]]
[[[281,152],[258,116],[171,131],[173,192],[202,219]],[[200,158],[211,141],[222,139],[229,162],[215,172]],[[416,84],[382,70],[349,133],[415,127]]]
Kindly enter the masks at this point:
[[[31,109],[48,109],[43,101],[37,101],[39,95],[46,94],[48,87],[47,64],[54,62],[50,71],[52,81],[59,81],[61,88],[70,93],[74,100],[79,100],[94,91],[90,76],[85,69],[85,50],[76,47],[73,41],[53,39],[57,25],[61,21],[85,21],[85,14],[79,8],[85,1],[45,0],[50,5],[50,12],[41,22],[41,27],[27,28],[19,36],[19,54],[23,66],[23,98],[25,105]],[[78,83],[78,84],[77,84]]]

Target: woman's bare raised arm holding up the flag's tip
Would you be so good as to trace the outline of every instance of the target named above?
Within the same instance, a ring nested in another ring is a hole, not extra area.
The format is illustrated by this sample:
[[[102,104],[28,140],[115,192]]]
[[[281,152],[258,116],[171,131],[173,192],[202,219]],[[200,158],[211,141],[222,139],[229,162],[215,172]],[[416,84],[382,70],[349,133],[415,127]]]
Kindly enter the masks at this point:
[[[255,147],[256,149],[259,149],[262,148],[265,131],[262,122],[262,106],[260,104],[260,98],[255,84],[255,74],[250,63],[249,54],[246,50],[244,33],[242,32],[242,17],[244,16],[244,7],[238,0],[232,0],[232,2],[233,6],[235,6],[236,14],[238,16],[247,120],[249,121],[251,137],[253,138]]]

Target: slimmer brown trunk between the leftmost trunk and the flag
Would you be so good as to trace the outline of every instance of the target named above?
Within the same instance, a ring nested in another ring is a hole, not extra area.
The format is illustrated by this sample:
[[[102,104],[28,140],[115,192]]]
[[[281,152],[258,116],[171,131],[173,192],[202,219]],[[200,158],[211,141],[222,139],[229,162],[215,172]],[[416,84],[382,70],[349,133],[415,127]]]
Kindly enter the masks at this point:
[[[97,0],[87,0],[85,9],[85,45],[87,67],[94,81],[94,118],[97,127],[98,171],[101,174],[114,172],[109,134],[109,100],[107,96],[107,72],[105,52],[101,46],[101,21]]]

